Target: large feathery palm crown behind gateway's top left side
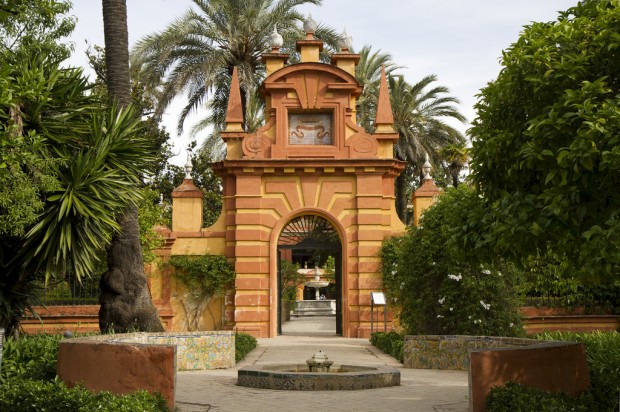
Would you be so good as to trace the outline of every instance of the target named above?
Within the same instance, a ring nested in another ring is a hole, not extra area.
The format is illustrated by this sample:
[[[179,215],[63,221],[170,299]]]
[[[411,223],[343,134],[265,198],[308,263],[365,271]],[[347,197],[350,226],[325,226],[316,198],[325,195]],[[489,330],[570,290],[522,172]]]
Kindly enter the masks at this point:
[[[156,114],[161,115],[178,95],[187,94],[178,128],[186,117],[209,102],[212,123],[222,130],[233,67],[237,67],[241,103],[264,78],[261,54],[274,26],[284,38],[282,51],[294,50],[303,33],[304,17],[296,10],[322,0],[193,0],[196,10],[173,21],[163,32],[143,38],[132,54],[132,64],[147,74],[152,89],[161,88]],[[319,26],[317,37],[337,44],[336,33]]]

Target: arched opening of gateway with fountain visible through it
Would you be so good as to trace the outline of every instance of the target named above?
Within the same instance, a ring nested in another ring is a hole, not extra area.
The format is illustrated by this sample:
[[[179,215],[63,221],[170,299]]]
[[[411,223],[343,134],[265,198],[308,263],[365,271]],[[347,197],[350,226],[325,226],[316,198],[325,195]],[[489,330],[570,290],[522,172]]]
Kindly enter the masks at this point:
[[[342,241],[325,218],[292,219],[278,238],[278,335],[342,335]]]

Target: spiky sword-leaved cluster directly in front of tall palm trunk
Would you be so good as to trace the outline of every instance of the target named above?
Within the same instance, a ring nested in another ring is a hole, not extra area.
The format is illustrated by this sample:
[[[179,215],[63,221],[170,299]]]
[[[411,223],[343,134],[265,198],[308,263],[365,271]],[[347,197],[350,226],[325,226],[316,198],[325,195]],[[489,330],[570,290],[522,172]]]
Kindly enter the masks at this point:
[[[36,261],[36,269],[70,270],[78,279],[93,272],[102,246],[120,229],[118,216],[140,199],[140,174],[150,159],[131,109],[94,112],[89,123],[84,134],[50,136],[64,160],[60,187],[47,194],[24,242],[24,259]]]

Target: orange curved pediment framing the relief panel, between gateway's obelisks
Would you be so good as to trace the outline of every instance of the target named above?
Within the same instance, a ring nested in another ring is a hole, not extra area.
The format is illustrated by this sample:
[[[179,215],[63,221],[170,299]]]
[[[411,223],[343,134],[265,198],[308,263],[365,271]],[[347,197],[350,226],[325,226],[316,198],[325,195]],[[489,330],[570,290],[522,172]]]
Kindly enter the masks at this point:
[[[244,139],[244,158],[376,158],[377,140],[354,119],[361,90],[351,74],[328,64],[277,70],[261,88],[267,122]]]

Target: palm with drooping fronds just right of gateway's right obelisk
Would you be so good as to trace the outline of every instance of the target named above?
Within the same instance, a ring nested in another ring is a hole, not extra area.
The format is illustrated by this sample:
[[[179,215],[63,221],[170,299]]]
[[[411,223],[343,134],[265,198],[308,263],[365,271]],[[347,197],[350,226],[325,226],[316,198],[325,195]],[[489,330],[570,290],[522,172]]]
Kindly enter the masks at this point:
[[[463,135],[443,120],[465,121],[454,106],[459,103],[444,86],[433,86],[437,76],[429,75],[410,85],[402,76],[390,76],[390,101],[394,114],[394,129],[399,135],[395,155],[408,163],[412,176],[421,176],[421,166],[428,154],[432,164],[441,164],[440,149],[464,141]],[[396,211],[406,220],[407,174],[396,178]]]

